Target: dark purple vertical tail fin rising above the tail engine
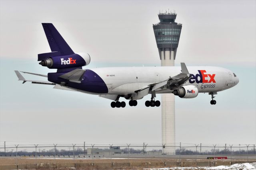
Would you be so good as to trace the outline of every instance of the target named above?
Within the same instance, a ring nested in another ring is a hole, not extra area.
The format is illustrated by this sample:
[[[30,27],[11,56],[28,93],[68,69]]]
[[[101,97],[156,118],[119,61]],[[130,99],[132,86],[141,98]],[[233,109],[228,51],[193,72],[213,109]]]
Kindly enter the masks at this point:
[[[42,23],[42,25],[52,52],[59,51],[61,55],[74,54],[52,23]]]

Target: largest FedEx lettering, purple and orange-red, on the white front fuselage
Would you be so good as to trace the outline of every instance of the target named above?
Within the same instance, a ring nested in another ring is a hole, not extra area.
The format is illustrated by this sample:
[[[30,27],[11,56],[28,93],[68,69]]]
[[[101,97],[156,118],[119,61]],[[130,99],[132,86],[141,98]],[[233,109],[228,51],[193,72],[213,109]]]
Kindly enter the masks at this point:
[[[199,74],[191,74],[191,78],[189,79],[190,83],[216,83],[214,80],[215,74],[205,74],[206,70],[198,70]]]

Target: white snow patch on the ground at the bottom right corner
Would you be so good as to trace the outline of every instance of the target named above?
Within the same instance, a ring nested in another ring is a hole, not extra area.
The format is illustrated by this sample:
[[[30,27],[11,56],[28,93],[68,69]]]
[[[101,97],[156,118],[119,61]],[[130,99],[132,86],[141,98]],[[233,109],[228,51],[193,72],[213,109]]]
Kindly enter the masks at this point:
[[[144,170],[256,170],[256,162],[214,167],[145,168]]]

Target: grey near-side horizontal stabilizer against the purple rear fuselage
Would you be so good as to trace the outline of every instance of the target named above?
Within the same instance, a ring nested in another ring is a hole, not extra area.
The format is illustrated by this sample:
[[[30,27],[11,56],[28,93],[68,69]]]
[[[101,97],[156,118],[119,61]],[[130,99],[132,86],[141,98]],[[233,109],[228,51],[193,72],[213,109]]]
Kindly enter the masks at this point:
[[[66,74],[62,74],[59,77],[69,80],[70,82],[81,83],[81,80],[84,76],[84,72],[85,72],[85,70],[77,68],[77,69],[72,70]]]

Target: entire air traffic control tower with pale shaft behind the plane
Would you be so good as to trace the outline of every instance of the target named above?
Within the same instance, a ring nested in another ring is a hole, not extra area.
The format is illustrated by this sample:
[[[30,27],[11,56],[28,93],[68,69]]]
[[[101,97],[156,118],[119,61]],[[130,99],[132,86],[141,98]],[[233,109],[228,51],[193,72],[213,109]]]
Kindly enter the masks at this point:
[[[175,22],[176,16],[175,12],[159,13],[160,22],[153,24],[161,66],[174,66],[182,29],[182,24]],[[164,154],[175,154],[175,147],[170,147],[175,145],[174,99],[174,94],[162,94],[162,152]]]

